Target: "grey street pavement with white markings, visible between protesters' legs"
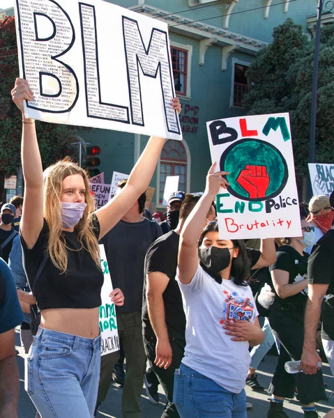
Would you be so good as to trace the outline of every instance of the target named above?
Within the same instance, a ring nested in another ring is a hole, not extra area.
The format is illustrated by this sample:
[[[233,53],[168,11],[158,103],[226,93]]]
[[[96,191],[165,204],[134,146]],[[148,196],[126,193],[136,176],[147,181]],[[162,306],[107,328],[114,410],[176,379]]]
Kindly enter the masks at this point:
[[[19,402],[19,409],[18,409],[18,418],[34,418],[35,417],[35,410],[33,408],[33,404],[30,401],[29,396],[24,391],[24,355],[22,352],[22,348],[20,346],[20,334],[17,330],[16,334],[16,344],[17,350],[19,350],[20,354],[17,355],[17,364],[20,369],[20,402]],[[258,373],[258,380],[259,383],[264,386],[268,387],[269,383],[271,382],[271,377],[273,376],[273,372],[275,371],[275,366],[277,364],[277,358],[275,356],[266,355],[264,362],[261,362],[259,366]],[[324,364],[323,367],[324,372],[324,380],[327,385],[326,394],[329,397],[334,390],[334,378],[331,375],[331,370],[328,367],[328,364]],[[248,401],[252,403],[253,408],[252,410],[248,410],[248,418],[266,418],[269,401],[268,401],[268,394],[261,394],[259,392],[253,392],[252,389],[246,387],[246,392],[248,395]],[[153,405],[149,398],[147,398],[145,389],[142,392],[142,411],[143,411],[143,418],[160,418],[162,414],[162,410],[165,405],[165,395],[163,394],[162,388],[159,387],[160,393],[160,403],[158,405]],[[121,418],[121,394],[122,389],[119,385],[112,385],[109,389],[109,393],[105,403],[100,408],[100,412],[98,413],[98,418]],[[289,418],[302,418],[303,412],[301,410],[300,404],[296,399],[291,399],[289,401],[284,402],[284,408],[289,415]],[[317,409],[319,410],[319,416],[322,418],[328,412],[334,408],[334,399],[330,401],[323,401],[317,404]],[[43,417],[48,418],[48,417]],[[78,417],[79,418],[79,417]],[[189,417],[192,418],[192,417]]]

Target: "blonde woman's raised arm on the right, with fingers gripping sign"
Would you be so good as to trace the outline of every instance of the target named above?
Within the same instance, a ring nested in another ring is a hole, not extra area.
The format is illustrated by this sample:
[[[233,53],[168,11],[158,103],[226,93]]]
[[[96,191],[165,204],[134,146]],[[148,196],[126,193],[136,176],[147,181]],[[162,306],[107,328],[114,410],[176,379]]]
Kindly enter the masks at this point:
[[[172,100],[172,107],[178,113],[181,112],[179,98]],[[151,137],[135,167],[133,167],[126,186],[107,205],[96,210],[100,222],[100,239],[119,222],[139,196],[149,187],[164,144],[165,139]]]

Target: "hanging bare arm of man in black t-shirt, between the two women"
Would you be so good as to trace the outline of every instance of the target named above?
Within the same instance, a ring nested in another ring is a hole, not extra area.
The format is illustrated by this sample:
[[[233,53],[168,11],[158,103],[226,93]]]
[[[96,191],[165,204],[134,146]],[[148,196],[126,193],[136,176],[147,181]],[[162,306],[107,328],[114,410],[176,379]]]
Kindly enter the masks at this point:
[[[146,275],[146,283],[147,309],[154,334],[158,340],[155,348],[155,364],[167,369],[172,362],[172,348],[169,343],[162,293],[167,288],[169,277],[162,272],[151,272]]]

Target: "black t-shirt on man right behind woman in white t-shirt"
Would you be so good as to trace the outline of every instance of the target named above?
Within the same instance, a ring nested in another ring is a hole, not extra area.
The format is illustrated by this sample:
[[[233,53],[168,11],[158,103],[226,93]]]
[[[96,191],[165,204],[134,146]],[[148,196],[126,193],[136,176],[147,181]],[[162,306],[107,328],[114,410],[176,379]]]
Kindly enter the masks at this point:
[[[162,293],[165,305],[165,323],[168,336],[185,341],[185,314],[179,284],[176,281],[177,257],[179,252],[180,235],[170,231],[162,235],[148,249],[145,259],[145,281],[143,292],[143,335],[155,336],[150,319],[146,300],[146,274],[162,272],[169,277],[169,282]],[[257,263],[261,252],[257,249],[247,249],[251,268]]]

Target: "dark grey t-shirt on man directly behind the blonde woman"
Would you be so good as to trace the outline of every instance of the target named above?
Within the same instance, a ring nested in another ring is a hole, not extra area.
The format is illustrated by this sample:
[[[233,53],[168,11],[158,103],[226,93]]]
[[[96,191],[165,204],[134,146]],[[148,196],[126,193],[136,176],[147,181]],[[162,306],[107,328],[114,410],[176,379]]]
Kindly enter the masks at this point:
[[[117,307],[118,312],[142,311],[145,255],[160,235],[160,226],[144,218],[142,222],[119,221],[101,240],[112,286],[120,288],[124,295],[124,304]]]

